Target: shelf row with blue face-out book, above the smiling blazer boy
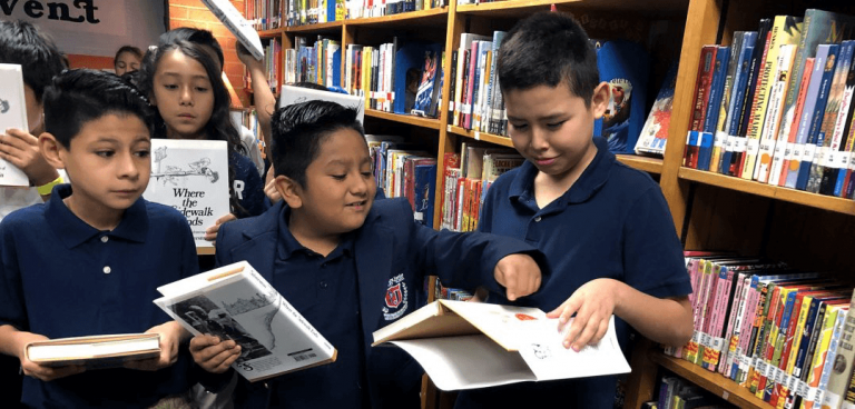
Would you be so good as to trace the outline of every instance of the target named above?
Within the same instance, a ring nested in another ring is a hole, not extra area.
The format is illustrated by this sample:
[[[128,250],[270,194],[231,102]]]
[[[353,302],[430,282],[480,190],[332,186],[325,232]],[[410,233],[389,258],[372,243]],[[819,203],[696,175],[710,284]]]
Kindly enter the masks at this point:
[[[436,117],[442,90],[442,46],[400,41],[380,47],[348,44],[345,90],[385,112]]]

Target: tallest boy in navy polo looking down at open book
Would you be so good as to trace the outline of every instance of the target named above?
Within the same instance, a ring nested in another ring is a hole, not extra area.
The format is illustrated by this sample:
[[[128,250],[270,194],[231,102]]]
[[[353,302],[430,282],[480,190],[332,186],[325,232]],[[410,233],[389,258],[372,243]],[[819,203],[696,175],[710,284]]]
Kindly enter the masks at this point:
[[[508,32],[497,69],[509,133],[527,160],[490,187],[479,230],[537,246],[552,276],[525,299],[488,300],[551,311],[573,350],[598,342],[611,315],[625,351],[627,325],[657,342],[687,342],[691,287],[665,198],[592,134],[608,88],[586,32],[569,16],[534,14]],[[616,385],[612,376],[485,388],[461,392],[456,407],[610,408]]]

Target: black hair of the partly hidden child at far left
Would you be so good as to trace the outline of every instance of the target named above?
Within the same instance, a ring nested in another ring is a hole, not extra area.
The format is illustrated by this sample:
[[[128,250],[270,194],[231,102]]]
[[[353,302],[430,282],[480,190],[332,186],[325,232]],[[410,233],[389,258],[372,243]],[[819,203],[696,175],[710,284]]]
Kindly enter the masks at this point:
[[[20,64],[23,83],[32,89],[39,102],[45,87],[66,68],[53,41],[32,23],[21,20],[0,21],[0,63]]]

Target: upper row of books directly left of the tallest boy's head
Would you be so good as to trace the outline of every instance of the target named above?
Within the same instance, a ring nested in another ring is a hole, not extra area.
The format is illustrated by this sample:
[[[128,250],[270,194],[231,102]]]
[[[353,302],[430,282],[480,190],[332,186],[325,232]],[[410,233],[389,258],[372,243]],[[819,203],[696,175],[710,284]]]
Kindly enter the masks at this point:
[[[449,103],[449,124],[493,134],[507,134],[508,119],[499,90],[495,56],[504,31],[492,37],[463,33],[460,48],[452,52],[454,79]]]

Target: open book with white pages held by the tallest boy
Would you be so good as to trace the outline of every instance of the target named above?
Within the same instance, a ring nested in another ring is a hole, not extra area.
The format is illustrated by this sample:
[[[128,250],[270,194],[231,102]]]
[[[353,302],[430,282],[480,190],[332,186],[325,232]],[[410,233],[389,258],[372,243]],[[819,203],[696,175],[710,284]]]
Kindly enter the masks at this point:
[[[562,337],[558,320],[537,308],[439,300],[374,331],[373,346],[402,348],[442,390],[630,371],[613,316],[596,346],[576,352]]]

